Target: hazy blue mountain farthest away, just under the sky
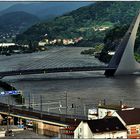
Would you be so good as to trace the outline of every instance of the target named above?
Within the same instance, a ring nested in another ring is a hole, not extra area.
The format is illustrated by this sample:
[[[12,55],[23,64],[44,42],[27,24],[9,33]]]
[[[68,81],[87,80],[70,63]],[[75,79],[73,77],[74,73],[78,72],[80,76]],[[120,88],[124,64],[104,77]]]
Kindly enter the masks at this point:
[[[93,2],[19,2],[1,11],[0,14],[24,11],[36,15],[40,19],[50,19],[91,3]]]

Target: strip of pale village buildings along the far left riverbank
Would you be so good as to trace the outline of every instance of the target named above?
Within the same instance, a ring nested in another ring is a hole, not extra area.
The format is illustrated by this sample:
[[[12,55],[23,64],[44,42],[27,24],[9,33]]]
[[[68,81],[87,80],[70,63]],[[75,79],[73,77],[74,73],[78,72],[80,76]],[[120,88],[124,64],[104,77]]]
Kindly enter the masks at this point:
[[[74,45],[79,41],[83,40],[83,37],[78,37],[74,39],[43,39],[39,41],[37,46],[30,44],[19,45],[16,43],[0,43],[0,54],[1,55],[11,55],[11,54],[20,54],[20,53],[31,53],[34,51],[45,51],[47,46],[67,46]]]

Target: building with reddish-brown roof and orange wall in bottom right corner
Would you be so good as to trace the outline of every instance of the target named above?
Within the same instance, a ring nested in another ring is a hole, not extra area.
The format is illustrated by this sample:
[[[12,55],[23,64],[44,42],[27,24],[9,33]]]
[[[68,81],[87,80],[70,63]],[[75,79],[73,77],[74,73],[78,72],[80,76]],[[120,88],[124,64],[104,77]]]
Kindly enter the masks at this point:
[[[122,109],[114,112],[128,130],[128,138],[140,138],[140,108]]]

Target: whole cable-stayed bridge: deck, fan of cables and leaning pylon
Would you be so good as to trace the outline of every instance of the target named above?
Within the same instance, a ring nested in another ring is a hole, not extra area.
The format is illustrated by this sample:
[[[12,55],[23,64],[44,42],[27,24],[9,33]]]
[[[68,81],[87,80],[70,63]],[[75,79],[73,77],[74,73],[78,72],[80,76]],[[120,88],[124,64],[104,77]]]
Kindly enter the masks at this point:
[[[104,70],[106,76],[113,76],[140,72],[140,64],[134,57],[139,23],[140,13],[132,21],[108,66],[93,56],[82,56],[82,49],[58,48],[43,53],[0,56],[0,76],[98,70]]]

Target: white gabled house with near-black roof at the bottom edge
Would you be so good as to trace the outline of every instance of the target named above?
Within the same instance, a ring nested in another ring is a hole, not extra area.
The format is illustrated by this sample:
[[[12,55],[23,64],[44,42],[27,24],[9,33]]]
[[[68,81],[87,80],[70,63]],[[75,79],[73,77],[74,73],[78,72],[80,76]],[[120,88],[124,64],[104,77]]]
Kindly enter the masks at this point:
[[[127,138],[127,129],[117,117],[82,121],[74,138]]]

